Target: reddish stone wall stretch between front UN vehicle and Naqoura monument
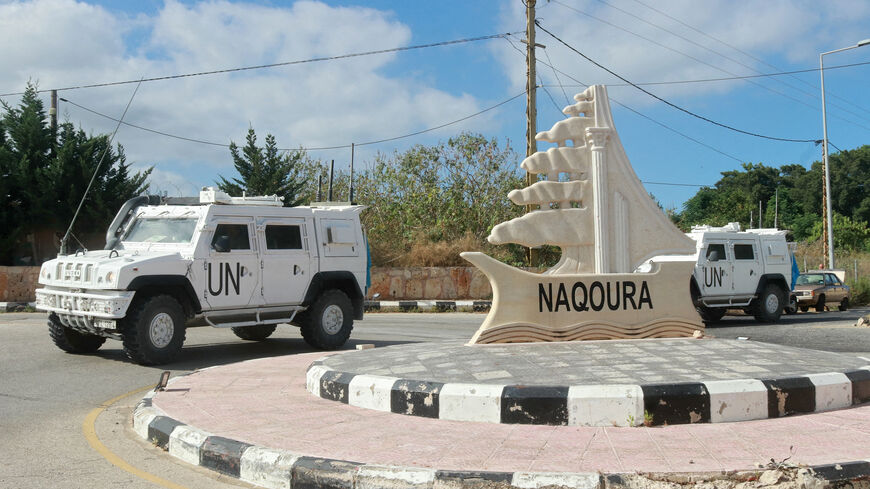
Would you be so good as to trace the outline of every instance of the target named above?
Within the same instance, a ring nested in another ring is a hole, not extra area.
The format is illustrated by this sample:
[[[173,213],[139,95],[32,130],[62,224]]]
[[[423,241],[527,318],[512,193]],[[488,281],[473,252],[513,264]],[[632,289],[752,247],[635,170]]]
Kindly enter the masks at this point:
[[[380,300],[489,299],[486,275],[475,267],[372,268],[368,297]]]

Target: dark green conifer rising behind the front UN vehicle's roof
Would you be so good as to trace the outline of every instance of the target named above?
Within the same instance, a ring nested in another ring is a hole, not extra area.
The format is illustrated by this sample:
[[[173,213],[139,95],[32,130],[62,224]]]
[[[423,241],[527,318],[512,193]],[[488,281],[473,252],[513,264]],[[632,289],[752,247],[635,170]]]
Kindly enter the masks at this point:
[[[278,151],[275,137],[266,135],[266,145],[257,146],[254,128],[248,129],[247,144],[239,150],[236,143],[230,143],[233,165],[240,178],[227,180],[219,176],[216,182],[222,191],[241,197],[247,195],[278,195],[284,198],[284,205],[291,207],[302,203],[303,185],[298,180],[299,166],[305,159],[303,150]]]

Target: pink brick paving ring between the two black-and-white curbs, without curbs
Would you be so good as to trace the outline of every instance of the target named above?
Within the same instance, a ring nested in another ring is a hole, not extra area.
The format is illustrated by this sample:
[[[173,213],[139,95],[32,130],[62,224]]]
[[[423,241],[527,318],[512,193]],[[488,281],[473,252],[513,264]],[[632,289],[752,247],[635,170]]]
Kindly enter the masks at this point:
[[[383,352],[383,350],[382,350]],[[214,367],[176,379],[153,406],[211,434],[312,457],[440,470],[683,472],[771,460],[870,460],[870,406],[656,428],[505,425],[360,409],[306,391],[322,354]],[[863,466],[862,466],[863,467]]]

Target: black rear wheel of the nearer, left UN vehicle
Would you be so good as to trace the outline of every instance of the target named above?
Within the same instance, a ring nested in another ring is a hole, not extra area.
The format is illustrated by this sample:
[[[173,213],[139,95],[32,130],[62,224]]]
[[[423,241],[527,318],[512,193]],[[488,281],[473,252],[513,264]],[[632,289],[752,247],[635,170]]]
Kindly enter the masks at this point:
[[[304,315],[302,338],[314,348],[335,350],[350,338],[353,330],[353,305],[340,290],[327,290]]]

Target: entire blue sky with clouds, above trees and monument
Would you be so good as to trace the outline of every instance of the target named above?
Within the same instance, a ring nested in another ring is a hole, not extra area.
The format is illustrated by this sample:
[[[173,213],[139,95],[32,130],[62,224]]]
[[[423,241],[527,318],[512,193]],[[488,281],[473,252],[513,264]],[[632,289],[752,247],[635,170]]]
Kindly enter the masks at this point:
[[[870,38],[864,1],[558,0],[538,1],[537,18],[587,56],[636,83],[691,81],[814,69],[820,52]],[[659,11],[654,11],[654,7]],[[75,2],[0,0],[0,93],[28,79],[42,89],[138,79],[432,43],[525,29],[520,0],[304,2]],[[494,39],[353,58],[144,83],[126,121],[188,138],[241,142],[248,126],[281,147],[344,145],[407,134],[463,118],[522,92],[518,42]],[[716,127],[658,102],[538,32],[546,86],[538,129],[563,117],[566,96],[608,85],[616,128],[635,171],[666,207],[679,208],[741,162],[808,166],[813,143],[777,142]],[[870,46],[825,57],[826,68],[870,61]],[[552,64],[561,74],[554,74]],[[868,143],[870,65],[826,69],[828,131],[839,148]],[[574,80],[572,80],[574,79]],[[559,84],[570,85],[560,87]],[[60,96],[118,117],[133,85],[69,90]],[[691,112],[739,129],[821,139],[817,71],[645,88]],[[3,96],[15,103],[17,97]],[[552,100],[551,100],[552,99]],[[47,100],[47,97],[46,97]],[[114,122],[70,104],[61,117],[93,133]],[[671,129],[662,127],[668,126]],[[357,148],[375,152],[433,144],[459,131],[510,141],[524,153],[525,102],[431,133]],[[676,131],[676,132],[674,132]],[[683,135],[677,134],[677,132]],[[695,139],[698,142],[692,141]],[[122,127],[118,141],[138,167],[155,165],[155,189],[191,194],[233,173],[219,146]],[[712,147],[713,149],[706,147]],[[546,149],[546,145],[541,145]],[[832,149],[834,151],[834,149]],[[723,154],[724,153],[724,154]],[[348,149],[312,156],[347,165]]]

